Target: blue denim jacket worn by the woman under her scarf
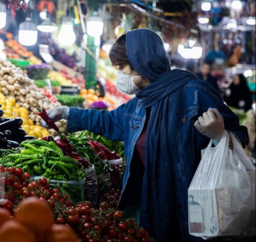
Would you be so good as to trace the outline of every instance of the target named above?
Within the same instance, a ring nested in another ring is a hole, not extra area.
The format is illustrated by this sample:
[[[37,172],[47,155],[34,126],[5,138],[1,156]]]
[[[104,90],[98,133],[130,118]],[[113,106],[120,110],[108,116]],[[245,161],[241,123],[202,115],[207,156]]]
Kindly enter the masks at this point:
[[[178,95],[183,95],[183,103],[178,101]],[[210,141],[195,129],[195,121],[209,107],[214,107],[222,113],[225,129],[228,132],[233,132],[243,145],[248,143],[248,132],[246,127],[239,125],[239,118],[223,103],[222,97],[216,90],[209,88],[208,83],[202,80],[191,80],[175,92],[171,105],[182,109],[180,130],[178,130],[178,139],[175,141],[175,160],[172,161],[174,165],[172,171],[169,171],[169,175],[173,176],[175,180],[175,201],[173,202],[176,204],[176,217],[183,241],[204,241],[189,235],[188,231],[187,190],[201,160],[201,150],[207,147]],[[128,189],[127,184],[131,177],[130,168],[134,147],[142,132],[145,119],[146,111],[137,97],[111,111],[70,108],[67,132],[90,130],[113,141],[125,142],[126,170],[123,177],[120,204],[125,204],[122,196]],[[168,149],[166,144],[161,145],[163,150]],[[145,149],[147,150],[148,147]],[[148,159],[150,158],[148,157]],[[171,240],[159,239],[159,241]]]

